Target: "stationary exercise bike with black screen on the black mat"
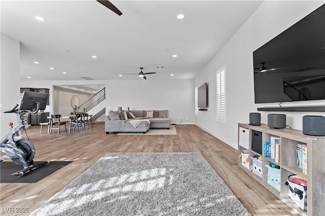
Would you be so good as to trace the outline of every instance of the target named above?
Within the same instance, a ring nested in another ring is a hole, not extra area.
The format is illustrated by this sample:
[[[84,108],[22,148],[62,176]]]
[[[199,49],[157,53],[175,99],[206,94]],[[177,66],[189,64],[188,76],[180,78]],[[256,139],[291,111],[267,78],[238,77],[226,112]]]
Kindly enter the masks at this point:
[[[48,100],[48,95],[41,97],[28,97],[30,95],[32,96],[39,96],[35,95],[38,93],[27,93],[25,96],[25,92],[23,95],[23,99],[21,101],[21,105],[18,108],[18,104],[16,104],[12,109],[4,111],[4,113],[15,113],[17,117],[17,124],[13,126],[13,123],[10,122],[9,126],[11,126],[10,131],[7,133],[5,137],[3,137],[0,141],[0,151],[5,153],[5,156],[0,157],[0,162],[3,162],[4,160],[11,159],[14,163],[18,165],[22,165],[23,169],[13,173],[12,175],[15,176],[24,176],[27,172],[34,170],[40,166],[44,166],[49,164],[49,161],[44,161],[38,164],[35,164],[33,159],[35,156],[35,147],[34,145],[29,141],[23,138],[23,136],[19,135],[20,131],[24,131],[25,127],[23,124],[23,117],[22,113],[29,112],[31,114],[37,113],[40,110],[40,105],[44,107],[44,101],[45,106]],[[25,96],[25,97],[24,97]],[[24,99],[25,98],[25,99]],[[27,100],[27,101],[26,101]],[[32,103],[30,103],[30,100],[32,100]],[[30,110],[24,110],[24,101],[25,104],[31,105],[32,108]],[[36,107],[36,108],[35,108]],[[35,108],[35,109],[34,109]]]

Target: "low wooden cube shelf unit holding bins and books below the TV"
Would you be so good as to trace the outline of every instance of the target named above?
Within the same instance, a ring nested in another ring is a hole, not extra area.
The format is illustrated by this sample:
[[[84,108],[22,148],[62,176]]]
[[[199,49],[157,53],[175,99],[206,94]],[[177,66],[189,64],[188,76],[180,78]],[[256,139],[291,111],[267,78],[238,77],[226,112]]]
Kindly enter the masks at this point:
[[[238,123],[238,156],[243,150],[246,150],[242,145],[239,145],[240,128],[249,130],[249,147],[247,149],[249,150],[249,157],[257,154],[263,158],[262,179],[244,167],[241,164],[241,158],[238,158],[238,165],[266,189],[284,200],[301,215],[325,215],[325,137],[307,136],[304,135],[302,131],[295,129],[273,129],[269,128],[267,125],[254,126],[246,123]],[[251,150],[252,130],[262,132],[262,155]],[[273,158],[264,157],[264,142],[270,142],[271,136],[280,137],[281,139],[279,163],[276,163]],[[302,169],[296,166],[296,149],[298,143],[307,145],[307,174],[304,174]],[[269,162],[276,163],[281,167],[280,192],[267,184],[268,168],[265,165]],[[252,159],[249,159],[249,165],[252,165]],[[289,188],[285,185],[285,182],[290,175],[298,175],[307,179],[307,212],[301,210],[295,203],[291,202],[288,197]]]

